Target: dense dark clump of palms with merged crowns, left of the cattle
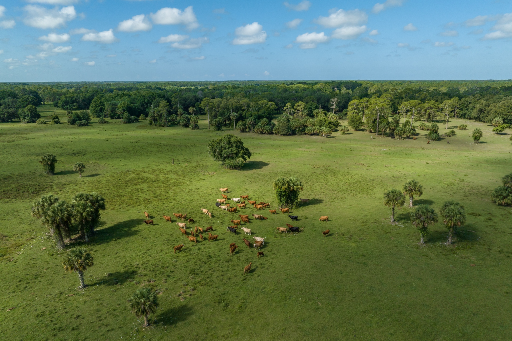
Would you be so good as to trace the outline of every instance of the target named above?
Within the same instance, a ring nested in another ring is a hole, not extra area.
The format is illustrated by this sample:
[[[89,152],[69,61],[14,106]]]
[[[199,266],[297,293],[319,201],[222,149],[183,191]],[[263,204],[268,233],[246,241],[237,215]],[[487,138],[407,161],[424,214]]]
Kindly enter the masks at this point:
[[[71,203],[59,200],[52,194],[43,195],[32,206],[32,216],[40,219],[57,243],[57,248],[64,248],[65,239],[71,237],[70,226],[76,222],[80,234],[86,242],[94,233],[105,210],[105,199],[98,193],[77,193]]]

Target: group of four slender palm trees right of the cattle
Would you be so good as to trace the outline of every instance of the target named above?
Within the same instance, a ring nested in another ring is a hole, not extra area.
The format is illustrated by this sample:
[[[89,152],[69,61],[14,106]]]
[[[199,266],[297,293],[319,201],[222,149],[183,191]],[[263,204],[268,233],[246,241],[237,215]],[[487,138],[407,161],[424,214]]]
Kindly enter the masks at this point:
[[[512,174],[510,174],[512,179]],[[510,181],[512,183],[512,181]],[[406,202],[406,195],[409,196],[409,207],[413,207],[414,197],[423,194],[423,187],[416,180],[409,180],[403,185],[402,191],[392,189],[384,193],[384,204],[391,209],[391,222],[395,222],[395,208],[401,208]],[[439,209],[443,224],[448,229],[447,245],[452,243],[452,237],[464,222],[466,215],[464,207],[456,201],[445,201]],[[438,215],[428,204],[419,204],[415,210],[410,213],[411,223],[416,226],[420,234],[420,244],[424,244],[429,232],[429,225],[438,222]]]

